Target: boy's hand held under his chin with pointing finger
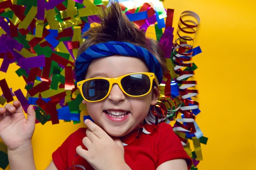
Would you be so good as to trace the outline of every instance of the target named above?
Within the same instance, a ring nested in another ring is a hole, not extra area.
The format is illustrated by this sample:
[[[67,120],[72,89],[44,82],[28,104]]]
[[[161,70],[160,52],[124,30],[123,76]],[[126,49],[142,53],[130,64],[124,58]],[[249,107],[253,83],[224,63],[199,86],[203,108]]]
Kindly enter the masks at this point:
[[[89,119],[85,120],[87,137],[83,144],[76,148],[78,155],[83,157],[95,170],[126,170],[129,166],[124,160],[124,146],[119,138],[112,139],[103,129]]]

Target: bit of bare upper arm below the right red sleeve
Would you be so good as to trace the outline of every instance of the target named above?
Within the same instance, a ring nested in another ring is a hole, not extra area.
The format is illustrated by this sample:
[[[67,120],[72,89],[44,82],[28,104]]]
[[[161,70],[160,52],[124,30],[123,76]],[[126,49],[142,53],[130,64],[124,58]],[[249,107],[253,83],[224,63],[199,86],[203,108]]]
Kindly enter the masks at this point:
[[[188,170],[185,159],[173,159],[159,165],[156,170]]]

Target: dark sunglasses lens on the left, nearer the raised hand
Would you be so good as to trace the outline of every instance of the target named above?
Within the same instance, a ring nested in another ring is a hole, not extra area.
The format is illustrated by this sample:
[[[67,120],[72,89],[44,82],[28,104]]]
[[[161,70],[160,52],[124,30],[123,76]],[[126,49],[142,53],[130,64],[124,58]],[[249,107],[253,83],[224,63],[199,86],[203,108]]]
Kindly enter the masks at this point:
[[[85,99],[100,100],[108,94],[109,82],[105,79],[94,79],[83,83],[82,91]]]

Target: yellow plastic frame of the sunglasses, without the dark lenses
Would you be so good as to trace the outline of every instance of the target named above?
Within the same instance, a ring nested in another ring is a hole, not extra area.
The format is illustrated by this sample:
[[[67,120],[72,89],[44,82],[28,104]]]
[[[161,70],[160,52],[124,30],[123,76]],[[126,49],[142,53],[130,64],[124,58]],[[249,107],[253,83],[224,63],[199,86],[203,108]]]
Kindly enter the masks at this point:
[[[136,75],[136,74],[143,74],[143,75],[147,75],[148,78],[150,79],[150,88],[148,90],[147,93],[143,94],[143,95],[130,95],[128,93],[126,93],[126,91],[124,91],[124,88],[123,86],[121,85],[121,79],[123,79],[124,77],[126,76],[129,76],[129,75]],[[83,95],[83,84],[85,82],[88,82],[90,80],[94,80],[94,79],[104,79],[104,80],[107,80],[109,82],[109,88],[108,88],[108,93],[106,94],[105,97],[103,97],[102,99],[99,99],[99,100],[88,100],[88,99],[85,99],[84,95]],[[142,96],[145,96],[147,95],[148,93],[150,93],[152,87],[153,87],[153,82],[155,82],[155,85],[157,86],[158,90],[159,90],[159,82],[158,82],[158,79],[157,77],[155,76],[155,73],[150,73],[150,72],[138,72],[138,73],[130,73],[130,74],[126,74],[126,75],[122,75],[120,77],[115,77],[115,78],[106,78],[106,77],[94,77],[94,78],[90,78],[90,79],[84,79],[84,80],[81,80],[79,82],[76,83],[76,86],[77,88],[79,89],[79,92],[80,94],[82,95],[83,99],[87,102],[99,102],[101,100],[104,100],[108,97],[108,95],[110,94],[110,91],[112,89],[112,86],[113,84],[118,84],[119,88],[121,89],[121,91],[129,96],[129,97],[142,97]]]

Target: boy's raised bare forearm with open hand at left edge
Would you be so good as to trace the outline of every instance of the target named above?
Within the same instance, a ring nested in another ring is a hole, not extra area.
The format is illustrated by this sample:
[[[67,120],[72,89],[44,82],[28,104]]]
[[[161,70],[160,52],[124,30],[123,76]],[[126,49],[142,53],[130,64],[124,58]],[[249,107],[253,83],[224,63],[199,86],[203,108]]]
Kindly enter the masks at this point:
[[[0,137],[8,148],[11,170],[36,169],[31,145],[35,122],[33,106],[27,108],[27,119],[18,101],[0,108]]]

